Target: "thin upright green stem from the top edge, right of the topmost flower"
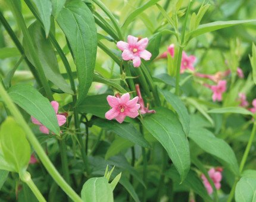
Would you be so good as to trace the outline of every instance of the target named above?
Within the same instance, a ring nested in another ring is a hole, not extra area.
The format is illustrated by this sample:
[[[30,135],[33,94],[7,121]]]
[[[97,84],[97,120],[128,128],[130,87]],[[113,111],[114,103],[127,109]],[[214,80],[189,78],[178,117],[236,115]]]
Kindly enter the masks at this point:
[[[178,55],[178,59],[177,59],[176,89],[175,89],[175,94],[176,95],[179,95],[180,65],[182,64],[182,51],[183,51],[183,46],[184,46],[183,43],[184,43],[184,40],[185,40],[186,24],[187,24],[187,21],[188,21],[189,11],[191,10],[191,5],[192,5],[192,0],[189,1],[188,9],[187,9],[186,15],[185,15],[185,21],[183,23],[182,39],[180,41],[179,55]]]

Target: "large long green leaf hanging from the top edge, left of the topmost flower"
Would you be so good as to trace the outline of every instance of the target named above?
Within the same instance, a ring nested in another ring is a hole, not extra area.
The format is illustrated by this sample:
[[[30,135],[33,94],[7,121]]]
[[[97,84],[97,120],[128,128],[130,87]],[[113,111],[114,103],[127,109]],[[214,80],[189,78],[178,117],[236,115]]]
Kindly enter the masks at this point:
[[[68,2],[60,11],[57,22],[74,54],[79,81],[77,105],[92,84],[97,50],[97,31],[92,12],[82,1]]]

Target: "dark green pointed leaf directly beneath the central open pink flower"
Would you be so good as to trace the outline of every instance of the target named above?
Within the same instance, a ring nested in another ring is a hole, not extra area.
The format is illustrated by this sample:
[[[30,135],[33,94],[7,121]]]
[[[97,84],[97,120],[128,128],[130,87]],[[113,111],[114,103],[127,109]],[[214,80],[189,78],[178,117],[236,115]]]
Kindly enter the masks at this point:
[[[104,128],[105,130],[113,131],[120,137],[126,138],[132,143],[138,144],[142,147],[149,147],[149,143],[143,138],[142,134],[136,130],[133,124],[122,123],[119,124],[117,121],[108,121],[105,119],[96,119],[93,124],[98,127]]]

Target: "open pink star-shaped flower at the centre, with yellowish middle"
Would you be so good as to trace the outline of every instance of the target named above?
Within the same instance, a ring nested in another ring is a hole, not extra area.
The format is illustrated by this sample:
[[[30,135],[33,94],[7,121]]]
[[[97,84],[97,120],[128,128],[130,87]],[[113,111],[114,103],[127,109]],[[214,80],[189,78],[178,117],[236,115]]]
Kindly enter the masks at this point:
[[[136,118],[139,115],[138,109],[141,107],[138,102],[139,97],[136,96],[132,100],[130,100],[130,94],[123,94],[121,97],[117,94],[115,96],[107,96],[108,104],[112,109],[105,113],[105,118],[108,120],[115,119],[120,124],[124,121],[126,116],[130,118]]]

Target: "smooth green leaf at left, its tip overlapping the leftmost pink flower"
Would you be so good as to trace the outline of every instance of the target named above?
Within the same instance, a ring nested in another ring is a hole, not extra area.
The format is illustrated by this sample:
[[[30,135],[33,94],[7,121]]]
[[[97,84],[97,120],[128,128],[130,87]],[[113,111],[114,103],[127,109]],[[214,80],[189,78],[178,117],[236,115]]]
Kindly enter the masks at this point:
[[[48,99],[32,86],[19,84],[8,90],[11,99],[55,134],[60,134],[57,117]]]

